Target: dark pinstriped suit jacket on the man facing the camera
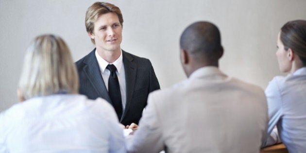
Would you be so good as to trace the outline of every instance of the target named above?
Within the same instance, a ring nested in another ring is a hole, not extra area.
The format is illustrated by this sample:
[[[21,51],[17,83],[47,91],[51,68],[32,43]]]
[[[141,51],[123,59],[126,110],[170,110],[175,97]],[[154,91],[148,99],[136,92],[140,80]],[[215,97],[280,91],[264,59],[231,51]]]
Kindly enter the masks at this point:
[[[105,87],[95,51],[76,62],[80,79],[80,94],[89,99],[101,97],[111,103]],[[126,105],[120,122],[129,125],[138,124],[143,108],[147,105],[150,92],[159,89],[159,83],[149,59],[141,58],[122,51],[126,84]]]

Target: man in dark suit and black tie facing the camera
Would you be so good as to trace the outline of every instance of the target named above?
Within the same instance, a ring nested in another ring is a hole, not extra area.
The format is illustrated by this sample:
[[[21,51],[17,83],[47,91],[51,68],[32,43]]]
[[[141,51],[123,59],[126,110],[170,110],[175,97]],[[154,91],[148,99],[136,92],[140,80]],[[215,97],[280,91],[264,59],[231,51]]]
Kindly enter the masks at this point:
[[[138,123],[150,92],[159,89],[150,60],[121,50],[119,7],[95,2],[86,12],[86,31],[96,48],[76,62],[80,94],[110,102],[123,125]]]

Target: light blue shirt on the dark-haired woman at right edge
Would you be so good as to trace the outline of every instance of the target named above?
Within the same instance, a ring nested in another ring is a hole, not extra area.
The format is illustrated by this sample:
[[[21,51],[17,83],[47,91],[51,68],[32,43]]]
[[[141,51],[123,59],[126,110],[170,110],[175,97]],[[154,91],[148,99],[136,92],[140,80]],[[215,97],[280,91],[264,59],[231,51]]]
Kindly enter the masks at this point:
[[[268,135],[272,133],[276,125],[279,136],[289,153],[305,153],[306,67],[286,77],[274,77],[266,88],[265,94],[270,119]],[[271,144],[271,142],[267,143]]]

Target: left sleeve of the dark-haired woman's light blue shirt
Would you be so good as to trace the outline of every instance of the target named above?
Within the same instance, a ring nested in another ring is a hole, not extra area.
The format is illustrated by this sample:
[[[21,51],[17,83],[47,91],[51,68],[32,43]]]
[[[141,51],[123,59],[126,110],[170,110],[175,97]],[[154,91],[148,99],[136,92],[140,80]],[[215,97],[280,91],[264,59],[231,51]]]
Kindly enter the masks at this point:
[[[282,97],[276,77],[274,77],[273,80],[267,86],[265,94],[268,102],[269,123],[268,123],[268,133],[267,133],[268,139],[263,146],[268,146],[280,142],[278,133],[272,132],[273,128],[275,127],[277,122],[282,118],[283,115]]]

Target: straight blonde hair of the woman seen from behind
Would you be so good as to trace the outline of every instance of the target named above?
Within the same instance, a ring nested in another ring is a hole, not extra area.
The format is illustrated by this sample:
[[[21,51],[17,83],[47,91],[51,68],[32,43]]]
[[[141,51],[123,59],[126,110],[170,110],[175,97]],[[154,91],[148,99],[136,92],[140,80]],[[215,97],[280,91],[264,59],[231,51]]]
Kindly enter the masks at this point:
[[[78,93],[79,78],[70,51],[59,36],[37,36],[26,50],[18,90],[25,100]]]

